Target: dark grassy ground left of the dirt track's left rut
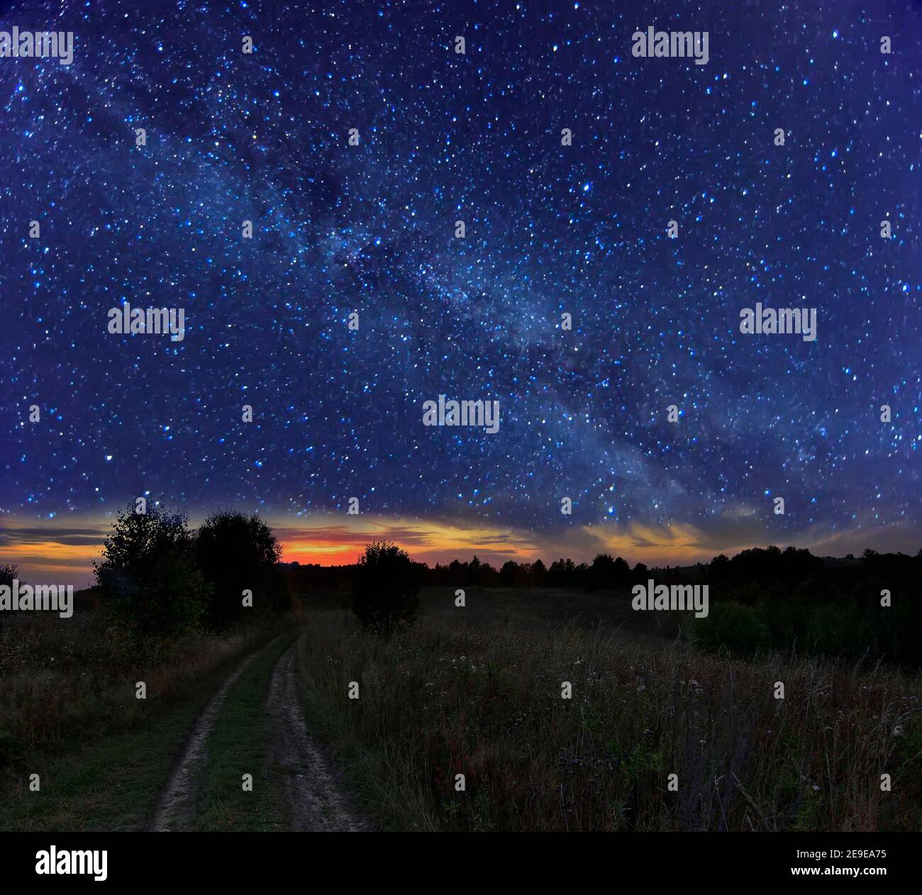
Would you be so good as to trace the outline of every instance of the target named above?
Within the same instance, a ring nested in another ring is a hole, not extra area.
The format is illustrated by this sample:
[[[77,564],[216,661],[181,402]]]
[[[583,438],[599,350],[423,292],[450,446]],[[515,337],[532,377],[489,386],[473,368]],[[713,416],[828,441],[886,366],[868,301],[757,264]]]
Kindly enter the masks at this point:
[[[133,657],[89,609],[3,623],[0,830],[141,829],[212,693],[272,635],[196,638]]]

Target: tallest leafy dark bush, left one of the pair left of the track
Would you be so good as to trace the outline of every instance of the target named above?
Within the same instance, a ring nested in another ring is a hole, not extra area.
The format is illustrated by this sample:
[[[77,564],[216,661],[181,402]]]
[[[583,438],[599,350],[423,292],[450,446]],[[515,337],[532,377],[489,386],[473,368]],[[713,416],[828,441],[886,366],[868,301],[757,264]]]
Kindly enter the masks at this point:
[[[94,562],[105,605],[142,636],[195,633],[209,588],[195,568],[186,517],[154,507],[120,512]]]

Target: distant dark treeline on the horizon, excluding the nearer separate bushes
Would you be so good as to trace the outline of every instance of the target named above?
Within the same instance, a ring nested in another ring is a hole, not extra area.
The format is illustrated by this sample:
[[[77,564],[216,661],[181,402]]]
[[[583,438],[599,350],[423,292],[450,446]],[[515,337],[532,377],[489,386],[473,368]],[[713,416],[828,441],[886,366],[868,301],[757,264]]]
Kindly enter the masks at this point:
[[[730,558],[666,569],[631,566],[599,554],[591,563],[556,559],[550,566],[505,562],[495,569],[477,557],[434,568],[414,563],[421,586],[570,588],[630,595],[634,584],[709,585],[710,613],[694,623],[704,649],[752,654],[795,649],[871,663],[922,666],[922,550],[916,556],[865,550],[860,557],[816,557],[789,547],[751,548]],[[354,566],[286,566],[294,594],[349,590]]]

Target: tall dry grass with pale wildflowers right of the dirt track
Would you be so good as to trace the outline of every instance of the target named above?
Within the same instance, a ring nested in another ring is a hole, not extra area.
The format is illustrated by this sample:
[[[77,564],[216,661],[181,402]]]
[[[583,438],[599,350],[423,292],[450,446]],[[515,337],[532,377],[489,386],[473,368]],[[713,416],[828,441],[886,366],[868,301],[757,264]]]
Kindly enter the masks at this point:
[[[301,641],[311,722],[385,828],[922,829],[918,676],[453,618],[382,642],[324,612]]]

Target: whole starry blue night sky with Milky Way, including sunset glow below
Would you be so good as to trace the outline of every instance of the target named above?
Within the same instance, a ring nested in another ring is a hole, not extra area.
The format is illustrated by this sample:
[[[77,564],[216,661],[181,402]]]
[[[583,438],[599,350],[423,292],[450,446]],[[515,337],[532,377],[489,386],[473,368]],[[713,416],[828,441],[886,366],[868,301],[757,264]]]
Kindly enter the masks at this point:
[[[145,493],[302,561],[922,545],[918,4],[3,8],[75,56],[0,59],[0,560],[88,566]],[[817,340],[740,335],[757,301]]]

